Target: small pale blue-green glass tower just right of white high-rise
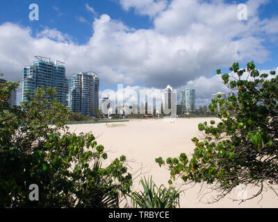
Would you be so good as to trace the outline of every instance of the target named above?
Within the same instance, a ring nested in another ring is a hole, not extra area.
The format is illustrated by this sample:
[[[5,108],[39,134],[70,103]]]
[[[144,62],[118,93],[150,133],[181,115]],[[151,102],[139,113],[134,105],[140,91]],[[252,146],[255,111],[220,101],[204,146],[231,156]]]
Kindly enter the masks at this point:
[[[195,110],[195,89],[185,89],[180,92],[182,112]]]

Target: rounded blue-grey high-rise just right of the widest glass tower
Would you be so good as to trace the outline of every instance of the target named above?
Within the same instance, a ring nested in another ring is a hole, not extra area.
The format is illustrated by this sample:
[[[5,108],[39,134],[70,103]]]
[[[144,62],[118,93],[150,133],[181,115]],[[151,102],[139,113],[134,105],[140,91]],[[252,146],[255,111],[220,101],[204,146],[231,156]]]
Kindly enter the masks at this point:
[[[70,79],[69,108],[72,112],[81,112],[95,116],[99,109],[99,78],[94,72],[74,74]]]

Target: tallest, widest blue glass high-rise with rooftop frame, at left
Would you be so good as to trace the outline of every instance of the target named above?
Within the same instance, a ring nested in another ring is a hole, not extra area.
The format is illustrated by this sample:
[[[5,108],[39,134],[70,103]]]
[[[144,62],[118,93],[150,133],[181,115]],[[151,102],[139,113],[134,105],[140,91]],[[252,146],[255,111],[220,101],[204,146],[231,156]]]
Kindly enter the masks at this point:
[[[56,87],[56,98],[67,105],[68,80],[65,76],[63,62],[51,62],[49,58],[35,56],[33,65],[23,67],[22,101],[26,101],[26,90],[33,96],[35,89],[40,87]]]

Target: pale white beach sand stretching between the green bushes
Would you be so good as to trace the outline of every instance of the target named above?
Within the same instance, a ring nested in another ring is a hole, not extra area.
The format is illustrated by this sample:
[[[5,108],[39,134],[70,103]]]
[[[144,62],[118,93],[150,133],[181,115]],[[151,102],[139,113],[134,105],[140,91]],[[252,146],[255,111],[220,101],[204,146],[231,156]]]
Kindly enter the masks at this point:
[[[108,161],[126,155],[129,162],[129,171],[135,173],[143,167],[142,174],[133,182],[133,189],[138,189],[138,182],[143,176],[153,176],[156,185],[167,185],[170,179],[170,172],[160,168],[154,161],[156,157],[178,157],[180,153],[190,155],[194,151],[193,137],[202,136],[197,129],[198,124],[210,121],[212,118],[191,118],[176,119],[174,123],[163,119],[131,120],[122,123],[98,123],[82,124],[70,126],[71,132],[88,133],[92,131],[97,137],[97,143],[103,144],[108,153]],[[217,121],[218,119],[215,119]],[[120,126],[117,126],[120,125]],[[138,176],[139,173],[136,173]],[[178,181],[179,183],[181,180]],[[181,194],[181,207],[278,207],[278,197],[268,189],[263,191],[261,196],[248,200],[238,205],[232,199],[238,198],[239,189],[235,189],[232,194],[226,196],[218,203],[207,204],[217,193],[213,191],[206,194],[199,202],[199,185],[188,189]],[[183,186],[183,189],[188,186]],[[276,187],[277,188],[277,187]],[[247,197],[256,194],[258,187],[247,187]],[[261,200],[261,201],[260,201]],[[258,203],[259,202],[259,203]]]

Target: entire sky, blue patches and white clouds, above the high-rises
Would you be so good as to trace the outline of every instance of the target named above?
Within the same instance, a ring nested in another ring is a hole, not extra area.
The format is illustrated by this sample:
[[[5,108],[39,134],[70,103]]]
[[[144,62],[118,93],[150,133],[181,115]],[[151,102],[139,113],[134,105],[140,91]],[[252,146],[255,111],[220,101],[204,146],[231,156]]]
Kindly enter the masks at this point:
[[[31,3],[39,21],[30,21]],[[239,21],[238,4],[247,6]],[[223,91],[215,76],[254,60],[277,69],[278,0],[3,0],[0,2],[0,69],[20,80],[33,57],[66,62],[67,78],[95,71],[101,91],[195,87],[197,105]]]

